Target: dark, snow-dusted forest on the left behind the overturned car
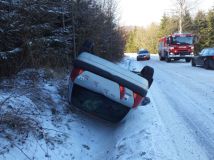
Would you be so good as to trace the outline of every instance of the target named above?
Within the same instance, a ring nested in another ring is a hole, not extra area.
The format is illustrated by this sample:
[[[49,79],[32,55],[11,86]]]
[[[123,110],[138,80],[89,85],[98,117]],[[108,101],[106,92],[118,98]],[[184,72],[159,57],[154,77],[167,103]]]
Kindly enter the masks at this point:
[[[0,74],[26,67],[68,68],[84,41],[118,60],[125,37],[114,0],[1,0]]]

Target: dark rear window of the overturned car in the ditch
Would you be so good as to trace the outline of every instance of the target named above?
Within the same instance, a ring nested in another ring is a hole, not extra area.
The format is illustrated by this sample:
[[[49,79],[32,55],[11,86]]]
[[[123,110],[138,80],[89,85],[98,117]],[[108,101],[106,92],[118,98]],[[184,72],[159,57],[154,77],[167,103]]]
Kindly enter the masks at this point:
[[[120,103],[79,85],[73,87],[72,104],[87,113],[111,122],[120,121],[130,110]]]

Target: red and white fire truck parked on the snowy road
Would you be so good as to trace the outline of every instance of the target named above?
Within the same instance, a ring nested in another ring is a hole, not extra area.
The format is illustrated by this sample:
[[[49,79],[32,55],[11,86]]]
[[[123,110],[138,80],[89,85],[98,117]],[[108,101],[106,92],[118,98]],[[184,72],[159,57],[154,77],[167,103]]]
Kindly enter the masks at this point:
[[[189,33],[174,33],[159,40],[159,59],[170,62],[173,60],[185,59],[190,62],[194,56],[195,36]]]

